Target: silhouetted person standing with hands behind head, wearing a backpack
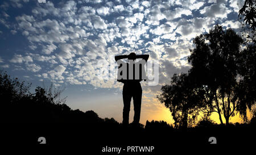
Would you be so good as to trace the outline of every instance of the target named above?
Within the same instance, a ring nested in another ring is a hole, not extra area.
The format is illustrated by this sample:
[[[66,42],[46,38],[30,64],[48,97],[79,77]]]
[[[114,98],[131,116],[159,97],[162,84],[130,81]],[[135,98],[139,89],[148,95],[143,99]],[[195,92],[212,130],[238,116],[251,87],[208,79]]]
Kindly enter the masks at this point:
[[[146,73],[144,65],[148,60],[149,55],[136,55],[130,53],[130,55],[115,56],[118,66],[118,80],[124,83],[123,85],[123,125],[129,124],[129,112],[131,98],[133,98],[134,105],[134,118],[133,123],[139,124],[141,116],[141,99],[142,88],[140,81],[146,81]],[[121,59],[128,58],[128,63],[123,62]],[[142,60],[135,62],[137,58]]]

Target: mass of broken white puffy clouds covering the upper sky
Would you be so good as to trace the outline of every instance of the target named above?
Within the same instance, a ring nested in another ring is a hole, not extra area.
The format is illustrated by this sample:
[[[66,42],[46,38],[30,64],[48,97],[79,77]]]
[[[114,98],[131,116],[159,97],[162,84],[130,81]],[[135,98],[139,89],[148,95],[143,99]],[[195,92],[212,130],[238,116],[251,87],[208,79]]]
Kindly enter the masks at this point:
[[[5,10],[0,22],[28,40],[27,47],[10,62],[24,63],[25,69],[40,71],[40,78],[50,78],[57,85],[119,88],[121,84],[114,79],[104,81],[97,76],[102,68],[98,62],[130,52],[159,60],[159,85],[163,85],[172,74],[190,67],[186,57],[193,48],[193,37],[208,32],[217,22],[239,28],[238,22],[227,17],[241,3],[229,2],[47,1],[31,6],[26,14],[10,16]],[[3,3],[0,7],[11,6]],[[15,18],[13,26],[10,18]],[[155,93],[159,86],[148,89]]]

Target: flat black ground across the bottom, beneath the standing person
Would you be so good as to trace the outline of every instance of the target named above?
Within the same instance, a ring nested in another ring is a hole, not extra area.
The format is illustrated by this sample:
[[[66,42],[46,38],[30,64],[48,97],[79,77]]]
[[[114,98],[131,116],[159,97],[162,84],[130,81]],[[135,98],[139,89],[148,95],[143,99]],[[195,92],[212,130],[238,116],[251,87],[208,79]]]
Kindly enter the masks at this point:
[[[92,115],[93,112],[87,112]],[[81,112],[86,114],[86,112]],[[92,116],[91,115],[91,116]],[[89,116],[89,115],[88,115]],[[92,119],[92,118],[91,118]],[[242,150],[255,146],[255,127],[252,124],[236,124],[229,127],[213,125],[175,129],[164,123],[148,122],[144,128],[122,127],[113,119],[85,120],[84,124],[68,121],[42,123],[42,125],[24,122],[7,123],[2,132],[5,145],[32,146],[37,149],[75,149],[83,154],[118,154],[102,152],[102,148],[122,147],[119,154],[170,154],[179,152],[197,152],[203,149],[217,150],[229,148]],[[77,120],[79,121],[79,120]],[[46,144],[39,144],[38,138],[45,137]],[[210,144],[209,137],[216,137],[217,144]],[[127,146],[154,146],[152,152],[127,152]]]

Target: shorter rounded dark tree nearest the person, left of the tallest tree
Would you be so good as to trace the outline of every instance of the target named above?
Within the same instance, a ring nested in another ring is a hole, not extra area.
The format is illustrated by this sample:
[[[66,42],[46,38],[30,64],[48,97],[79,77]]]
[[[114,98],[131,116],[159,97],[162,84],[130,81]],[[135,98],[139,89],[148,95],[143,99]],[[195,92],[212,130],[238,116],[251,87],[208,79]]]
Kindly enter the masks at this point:
[[[162,86],[163,93],[157,98],[170,109],[176,128],[192,127],[195,124],[199,108],[209,102],[204,98],[205,91],[202,88],[195,87],[191,77],[185,73],[174,74],[171,85]]]

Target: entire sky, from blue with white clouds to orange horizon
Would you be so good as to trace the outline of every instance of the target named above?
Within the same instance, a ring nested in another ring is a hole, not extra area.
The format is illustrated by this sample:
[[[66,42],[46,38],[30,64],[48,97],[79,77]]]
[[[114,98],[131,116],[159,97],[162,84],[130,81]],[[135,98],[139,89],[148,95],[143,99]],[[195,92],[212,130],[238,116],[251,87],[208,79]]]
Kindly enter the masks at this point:
[[[93,110],[101,118],[122,122],[122,83],[102,68],[115,55],[148,54],[158,63],[158,80],[141,82],[141,123],[174,123],[156,99],[174,73],[187,73],[193,38],[215,24],[240,33],[241,0],[9,0],[0,2],[0,69],[36,86],[64,89],[73,110]],[[102,63],[103,62],[103,63]],[[153,69],[149,69],[152,71]],[[154,73],[156,70],[154,70]],[[131,102],[133,105],[133,102]],[[133,106],[130,122],[133,120]],[[214,120],[219,123],[217,115]],[[236,116],[233,122],[241,122]]]

